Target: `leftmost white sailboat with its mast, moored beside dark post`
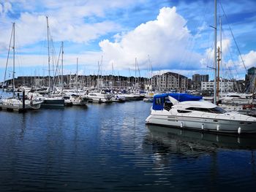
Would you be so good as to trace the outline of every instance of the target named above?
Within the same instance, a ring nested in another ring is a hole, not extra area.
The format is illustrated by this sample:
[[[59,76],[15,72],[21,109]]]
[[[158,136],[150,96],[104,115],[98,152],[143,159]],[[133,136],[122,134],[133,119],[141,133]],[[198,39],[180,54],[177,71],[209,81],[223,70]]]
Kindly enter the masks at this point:
[[[0,107],[6,110],[25,111],[25,110],[38,110],[41,107],[42,101],[37,99],[27,99],[25,91],[23,91],[22,98],[15,96],[15,23],[12,23],[11,41],[13,50],[13,71],[12,71],[12,97],[1,99]],[[9,56],[9,55],[8,55]]]

